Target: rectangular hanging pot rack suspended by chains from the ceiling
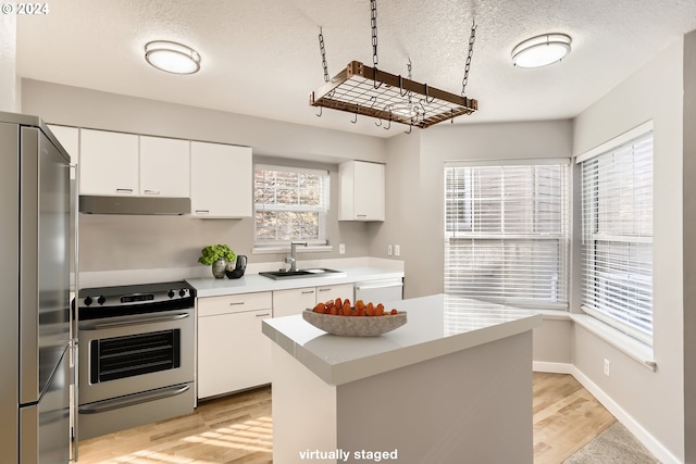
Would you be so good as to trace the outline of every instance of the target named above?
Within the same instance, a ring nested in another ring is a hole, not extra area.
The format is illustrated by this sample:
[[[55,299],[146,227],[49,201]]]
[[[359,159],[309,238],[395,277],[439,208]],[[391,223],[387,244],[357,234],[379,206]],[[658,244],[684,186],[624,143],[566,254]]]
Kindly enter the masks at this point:
[[[353,124],[358,115],[378,118],[380,122],[375,123],[377,126],[383,125],[383,120],[387,121],[388,123],[384,125],[385,129],[391,126],[391,122],[407,124],[410,126],[408,131],[410,134],[413,126],[426,128],[443,121],[453,122],[455,117],[472,114],[478,109],[478,102],[465,96],[475,39],[475,24],[472,25],[469,39],[462,91],[461,95],[456,95],[412,80],[410,60],[408,78],[378,70],[376,0],[371,0],[371,13],[372,67],[359,61],[351,61],[330,79],[324,36],[320,28],[319,45],[325,84],[309,96],[309,103],[320,109],[318,116],[322,115],[322,108],[328,108],[352,113],[355,117],[351,123]]]

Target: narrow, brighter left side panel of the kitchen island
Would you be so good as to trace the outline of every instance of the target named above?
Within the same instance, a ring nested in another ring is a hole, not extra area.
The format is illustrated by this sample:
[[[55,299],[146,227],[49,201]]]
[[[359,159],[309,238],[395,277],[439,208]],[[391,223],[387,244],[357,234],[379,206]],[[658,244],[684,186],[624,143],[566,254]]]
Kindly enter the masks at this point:
[[[302,452],[336,450],[336,387],[273,343],[274,463],[330,463]]]

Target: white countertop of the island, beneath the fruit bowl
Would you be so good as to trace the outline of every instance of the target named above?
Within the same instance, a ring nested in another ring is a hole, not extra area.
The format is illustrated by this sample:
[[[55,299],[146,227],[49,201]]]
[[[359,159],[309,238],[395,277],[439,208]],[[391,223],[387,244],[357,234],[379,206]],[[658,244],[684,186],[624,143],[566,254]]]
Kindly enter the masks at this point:
[[[338,337],[301,315],[263,321],[271,340],[330,385],[341,385],[531,330],[542,315],[446,294],[384,302],[408,323],[378,337]]]

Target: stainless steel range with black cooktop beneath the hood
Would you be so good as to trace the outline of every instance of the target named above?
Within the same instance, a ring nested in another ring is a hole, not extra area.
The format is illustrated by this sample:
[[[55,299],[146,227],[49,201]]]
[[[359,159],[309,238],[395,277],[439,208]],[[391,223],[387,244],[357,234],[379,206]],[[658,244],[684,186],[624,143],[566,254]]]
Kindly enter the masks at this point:
[[[79,291],[80,439],[194,411],[195,296],[184,281]]]

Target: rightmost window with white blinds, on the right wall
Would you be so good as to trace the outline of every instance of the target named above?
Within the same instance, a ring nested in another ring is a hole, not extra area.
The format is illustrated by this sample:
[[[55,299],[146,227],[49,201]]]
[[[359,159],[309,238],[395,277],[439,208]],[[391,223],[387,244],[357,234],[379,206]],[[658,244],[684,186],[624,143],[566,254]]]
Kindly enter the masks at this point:
[[[579,163],[582,308],[652,344],[652,133]]]

